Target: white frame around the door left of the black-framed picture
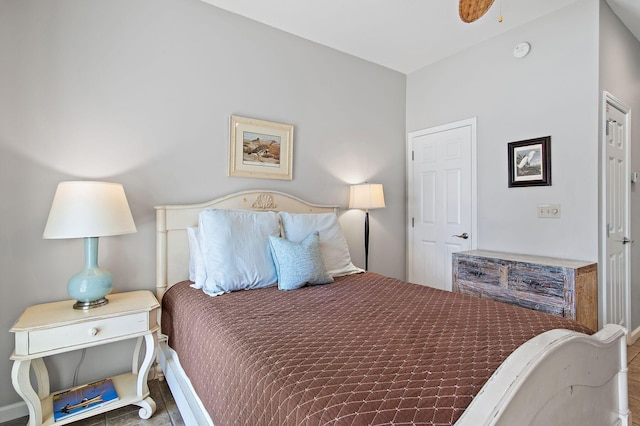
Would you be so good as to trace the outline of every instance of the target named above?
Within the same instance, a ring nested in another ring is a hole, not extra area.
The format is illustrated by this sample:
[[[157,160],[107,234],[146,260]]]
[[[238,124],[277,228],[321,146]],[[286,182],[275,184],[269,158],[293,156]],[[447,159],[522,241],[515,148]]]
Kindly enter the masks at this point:
[[[413,232],[411,219],[414,217],[414,200],[413,194],[413,153],[411,150],[411,141],[415,137],[429,135],[431,133],[443,132],[459,127],[471,127],[471,249],[478,248],[478,136],[477,136],[477,117],[468,118],[466,120],[454,121],[452,123],[442,124],[436,127],[416,130],[407,134],[407,264],[405,275],[408,278],[413,262]]]

